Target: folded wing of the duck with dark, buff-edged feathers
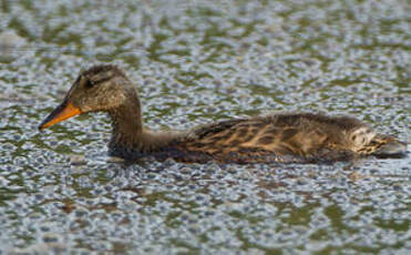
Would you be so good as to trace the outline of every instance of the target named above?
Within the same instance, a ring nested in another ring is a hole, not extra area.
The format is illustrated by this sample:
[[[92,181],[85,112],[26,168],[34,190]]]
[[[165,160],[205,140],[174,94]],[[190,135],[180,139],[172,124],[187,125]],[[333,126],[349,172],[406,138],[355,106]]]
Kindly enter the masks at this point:
[[[352,153],[341,145],[343,129],[336,125],[336,120],[319,115],[279,114],[223,121],[193,130],[183,147],[224,163],[326,163],[347,160]]]

